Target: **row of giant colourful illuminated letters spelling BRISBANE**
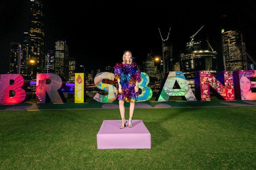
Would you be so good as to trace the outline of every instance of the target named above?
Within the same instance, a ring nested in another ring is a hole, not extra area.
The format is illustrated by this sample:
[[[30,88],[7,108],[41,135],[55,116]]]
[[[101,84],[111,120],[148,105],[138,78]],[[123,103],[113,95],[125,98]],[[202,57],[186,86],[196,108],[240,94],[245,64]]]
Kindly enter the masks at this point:
[[[148,87],[149,76],[141,72],[139,88],[142,93],[138,101],[148,101],[152,97],[152,89]],[[98,73],[94,78],[97,88],[107,91],[107,95],[97,93],[93,99],[99,102],[113,102],[117,97],[117,88],[112,84],[103,83],[103,80],[114,80],[113,73]],[[165,74],[156,101],[168,101],[170,96],[181,96],[184,101],[210,101],[210,91],[218,99],[256,100],[256,70],[220,71],[217,77],[209,71],[194,73],[195,94],[181,71]],[[75,103],[83,103],[86,95],[84,73],[75,73]],[[66,99],[62,93],[65,80],[57,74],[37,74],[36,76],[36,103],[46,102],[64,103]],[[2,74],[0,76],[0,105],[18,104],[28,101],[32,97],[28,90],[30,80],[19,74]],[[11,92],[13,92],[11,95]]]

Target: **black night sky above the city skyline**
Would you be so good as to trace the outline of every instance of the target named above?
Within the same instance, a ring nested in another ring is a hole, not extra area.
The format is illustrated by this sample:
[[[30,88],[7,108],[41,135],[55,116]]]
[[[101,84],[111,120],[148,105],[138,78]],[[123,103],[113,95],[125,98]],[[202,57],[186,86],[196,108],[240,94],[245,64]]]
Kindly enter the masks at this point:
[[[23,32],[28,32],[30,0],[5,0],[0,5],[0,73],[7,73],[10,43],[22,42]],[[190,37],[195,36],[207,48],[206,38],[217,51],[218,69],[222,70],[221,29],[241,30],[246,50],[255,59],[256,2],[232,1],[180,1],[138,0],[114,3],[105,0],[47,0],[44,2],[45,43],[54,50],[54,42],[65,40],[70,57],[86,70],[114,66],[122,61],[125,50],[130,50],[139,64],[152,49],[156,56],[162,54],[163,38],[173,43],[173,55],[178,62]],[[103,70],[104,71],[104,70]]]

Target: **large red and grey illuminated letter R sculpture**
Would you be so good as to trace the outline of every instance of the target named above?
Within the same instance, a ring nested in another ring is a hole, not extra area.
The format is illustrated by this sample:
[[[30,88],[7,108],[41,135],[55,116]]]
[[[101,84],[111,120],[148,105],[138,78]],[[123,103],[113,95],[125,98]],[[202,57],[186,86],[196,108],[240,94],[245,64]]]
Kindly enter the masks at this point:
[[[57,74],[36,75],[36,103],[64,103],[66,99],[61,91],[65,86],[64,78]]]

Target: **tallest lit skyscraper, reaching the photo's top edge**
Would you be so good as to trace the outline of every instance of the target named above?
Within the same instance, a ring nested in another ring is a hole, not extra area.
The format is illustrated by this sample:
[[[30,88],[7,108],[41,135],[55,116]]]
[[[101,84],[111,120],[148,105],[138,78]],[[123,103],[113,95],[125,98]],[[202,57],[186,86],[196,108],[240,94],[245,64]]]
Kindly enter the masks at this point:
[[[44,70],[44,13],[41,0],[30,0],[30,3],[31,26],[29,30],[27,72],[32,80],[36,80],[36,73],[43,73]]]

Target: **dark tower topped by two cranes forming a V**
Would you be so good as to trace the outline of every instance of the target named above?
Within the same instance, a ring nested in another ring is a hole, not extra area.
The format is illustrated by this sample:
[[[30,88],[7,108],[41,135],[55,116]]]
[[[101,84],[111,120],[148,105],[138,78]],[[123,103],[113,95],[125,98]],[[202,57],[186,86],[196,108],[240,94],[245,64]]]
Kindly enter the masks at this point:
[[[159,29],[159,28],[158,28]],[[160,29],[160,36],[162,38],[162,45],[163,45],[163,72],[164,74],[166,72],[174,71],[174,59],[172,56],[172,42],[170,42],[169,35],[170,35],[171,28],[169,30],[167,39],[163,39]]]

